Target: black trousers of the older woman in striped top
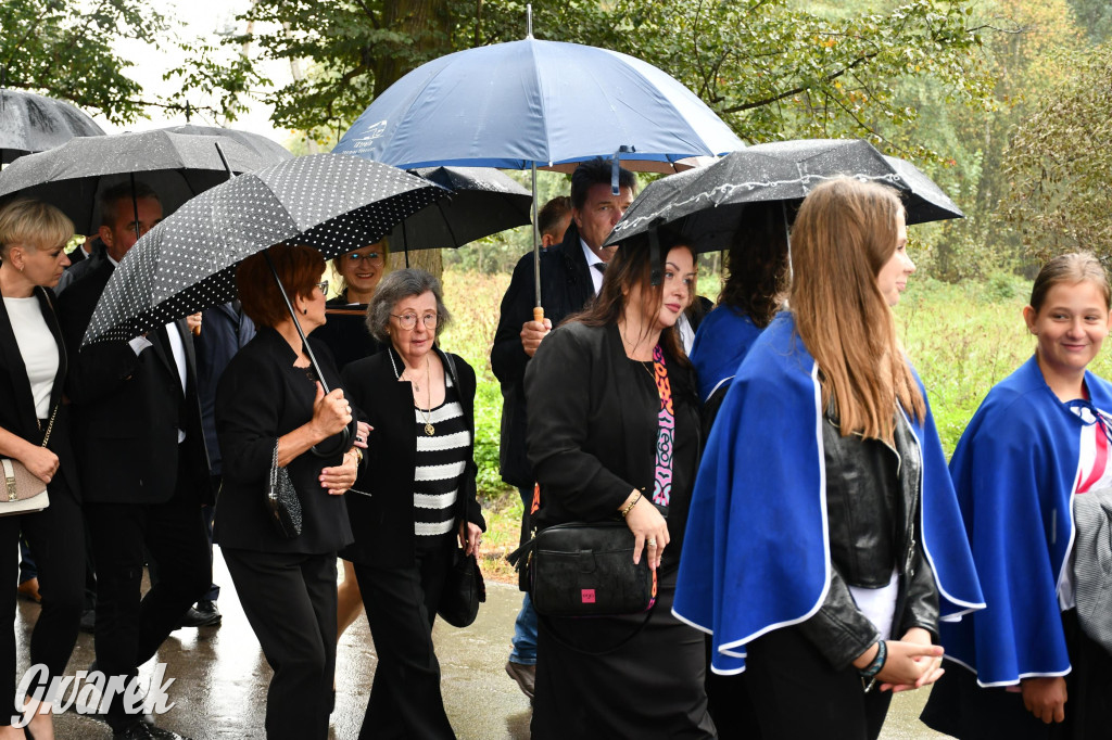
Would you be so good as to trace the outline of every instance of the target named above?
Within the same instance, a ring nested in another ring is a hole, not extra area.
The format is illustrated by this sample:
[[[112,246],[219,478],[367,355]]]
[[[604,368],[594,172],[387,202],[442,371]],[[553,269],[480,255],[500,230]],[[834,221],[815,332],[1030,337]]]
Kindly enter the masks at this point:
[[[355,563],[378,667],[359,740],[455,738],[440,694],[433,622],[454,536],[419,547],[406,568]]]

